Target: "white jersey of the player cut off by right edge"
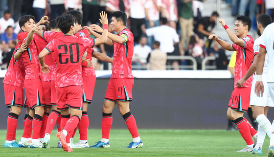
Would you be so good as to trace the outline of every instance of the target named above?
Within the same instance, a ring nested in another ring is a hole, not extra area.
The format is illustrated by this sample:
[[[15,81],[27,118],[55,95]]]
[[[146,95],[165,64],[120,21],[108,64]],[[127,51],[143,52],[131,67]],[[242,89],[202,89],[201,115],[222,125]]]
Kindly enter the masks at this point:
[[[265,48],[268,54],[267,82],[274,82],[274,23],[269,24],[261,36],[260,46]]]

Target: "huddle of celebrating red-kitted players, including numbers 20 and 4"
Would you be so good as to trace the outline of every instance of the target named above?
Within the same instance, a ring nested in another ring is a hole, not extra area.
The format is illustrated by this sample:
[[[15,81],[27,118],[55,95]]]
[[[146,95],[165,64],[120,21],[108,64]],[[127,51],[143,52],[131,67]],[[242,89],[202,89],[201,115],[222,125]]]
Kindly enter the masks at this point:
[[[73,152],[72,148],[89,147],[87,111],[96,81],[91,56],[113,63],[103,105],[102,139],[91,147],[110,147],[112,111],[116,104],[133,137],[125,148],[143,146],[129,109],[134,85],[131,71],[134,37],[126,27],[127,15],[120,11],[112,13],[111,26],[117,35],[108,32],[107,14],[102,12],[100,17],[103,28],[96,24],[82,27],[82,14],[77,10],[50,22],[46,16],[38,23],[33,16],[21,17],[19,25],[23,33],[17,36],[19,43],[3,80],[5,105],[10,108],[4,147],[50,148],[50,133],[55,124],[58,148]],[[114,45],[113,59],[92,49],[100,44]],[[18,143],[15,137],[22,107],[27,110]],[[73,143],[77,128],[80,140]]]

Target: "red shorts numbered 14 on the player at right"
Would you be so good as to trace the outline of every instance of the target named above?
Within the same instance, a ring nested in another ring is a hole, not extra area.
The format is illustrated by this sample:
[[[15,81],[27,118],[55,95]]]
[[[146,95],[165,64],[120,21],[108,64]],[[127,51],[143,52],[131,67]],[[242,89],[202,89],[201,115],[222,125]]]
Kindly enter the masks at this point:
[[[235,111],[247,112],[250,103],[250,87],[236,87],[232,91],[228,108]]]

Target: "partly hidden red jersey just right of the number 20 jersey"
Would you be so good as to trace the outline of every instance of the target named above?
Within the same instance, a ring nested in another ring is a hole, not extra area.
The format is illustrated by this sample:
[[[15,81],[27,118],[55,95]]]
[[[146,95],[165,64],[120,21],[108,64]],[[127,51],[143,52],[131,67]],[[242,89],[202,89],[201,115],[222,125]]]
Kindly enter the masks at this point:
[[[76,32],[74,35],[76,37],[91,38],[89,32],[85,28],[82,28],[82,29],[78,30],[78,32]],[[87,58],[86,59],[90,59],[90,61],[91,61],[91,59],[92,59],[91,57],[92,57],[92,54],[94,52],[93,48],[89,47],[89,48],[87,48],[86,51],[87,51]],[[93,69],[92,66],[91,67],[82,66],[82,75],[83,76],[95,75],[95,70]]]

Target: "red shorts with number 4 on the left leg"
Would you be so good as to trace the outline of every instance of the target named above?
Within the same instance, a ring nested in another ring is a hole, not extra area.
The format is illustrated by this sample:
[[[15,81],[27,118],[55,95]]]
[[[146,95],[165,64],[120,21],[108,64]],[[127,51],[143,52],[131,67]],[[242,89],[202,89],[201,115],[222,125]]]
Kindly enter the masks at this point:
[[[110,79],[105,95],[105,100],[132,101],[132,88],[134,78],[115,78]]]

